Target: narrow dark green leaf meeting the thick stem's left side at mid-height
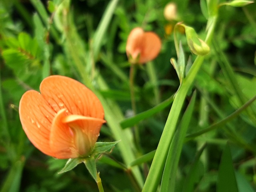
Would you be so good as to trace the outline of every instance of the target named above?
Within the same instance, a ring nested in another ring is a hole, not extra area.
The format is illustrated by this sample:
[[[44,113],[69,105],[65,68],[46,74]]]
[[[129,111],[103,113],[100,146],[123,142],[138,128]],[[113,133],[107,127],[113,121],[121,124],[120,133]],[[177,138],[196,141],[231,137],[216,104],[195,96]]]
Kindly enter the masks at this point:
[[[140,122],[141,120],[149,118],[150,116],[162,111],[164,108],[168,107],[172,103],[173,96],[174,95],[170,96],[170,98],[166,99],[162,103],[158,104],[157,106],[155,106],[149,110],[141,112],[133,117],[126,118],[125,120],[120,122],[121,127],[122,128],[132,127],[135,124],[137,124],[138,122]]]

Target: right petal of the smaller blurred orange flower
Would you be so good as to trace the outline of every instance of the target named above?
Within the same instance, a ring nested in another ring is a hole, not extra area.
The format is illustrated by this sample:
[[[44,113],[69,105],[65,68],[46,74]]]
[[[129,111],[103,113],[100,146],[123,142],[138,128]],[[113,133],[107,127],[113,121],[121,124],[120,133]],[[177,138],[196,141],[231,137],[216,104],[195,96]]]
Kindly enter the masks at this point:
[[[162,46],[160,38],[153,32],[145,32],[143,40],[139,63],[146,63],[156,58]]]

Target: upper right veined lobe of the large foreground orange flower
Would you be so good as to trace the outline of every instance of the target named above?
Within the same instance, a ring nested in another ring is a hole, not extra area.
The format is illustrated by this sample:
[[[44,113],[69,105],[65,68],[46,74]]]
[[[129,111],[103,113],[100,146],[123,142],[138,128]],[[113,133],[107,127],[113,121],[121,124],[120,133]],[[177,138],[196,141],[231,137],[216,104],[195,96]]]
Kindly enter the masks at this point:
[[[40,91],[56,112],[66,108],[68,114],[104,118],[104,110],[97,96],[72,78],[49,76],[40,84]]]

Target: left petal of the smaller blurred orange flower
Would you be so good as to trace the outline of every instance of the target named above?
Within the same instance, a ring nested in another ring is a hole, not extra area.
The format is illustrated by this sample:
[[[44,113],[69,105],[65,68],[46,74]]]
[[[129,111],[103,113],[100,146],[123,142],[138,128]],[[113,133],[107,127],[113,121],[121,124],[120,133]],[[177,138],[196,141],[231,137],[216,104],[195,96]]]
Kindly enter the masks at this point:
[[[136,60],[142,51],[143,38],[144,30],[142,28],[137,27],[130,32],[126,44],[126,54],[128,58],[131,56],[133,60]]]

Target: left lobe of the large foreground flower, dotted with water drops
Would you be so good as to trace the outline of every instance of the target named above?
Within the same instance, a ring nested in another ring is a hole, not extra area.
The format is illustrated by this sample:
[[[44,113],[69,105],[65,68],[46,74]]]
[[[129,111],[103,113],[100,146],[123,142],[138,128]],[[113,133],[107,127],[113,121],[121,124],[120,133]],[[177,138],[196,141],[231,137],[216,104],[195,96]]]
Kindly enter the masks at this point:
[[[39,92],[27,91],[20,99],[19,114],[28,139],[44,154],[52,156],[49,137],[51,123],[56,113],[48,102]]]

